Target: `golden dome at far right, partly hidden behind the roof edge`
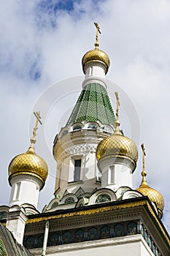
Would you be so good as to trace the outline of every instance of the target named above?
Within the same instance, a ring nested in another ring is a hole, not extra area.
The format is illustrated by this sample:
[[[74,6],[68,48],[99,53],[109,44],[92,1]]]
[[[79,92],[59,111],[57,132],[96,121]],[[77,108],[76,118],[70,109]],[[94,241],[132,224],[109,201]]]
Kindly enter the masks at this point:
[[[155,203],[155,205],[158,208],[158,211],[161,210],[161,214],[164,208],[164,200],[163,196],[161,195],[160,192],[156,189],[152,189],[148,184],[144,185],[142,184],[136,191],[141,192],[142,195],[147,196],[150,198],[150,201]]]

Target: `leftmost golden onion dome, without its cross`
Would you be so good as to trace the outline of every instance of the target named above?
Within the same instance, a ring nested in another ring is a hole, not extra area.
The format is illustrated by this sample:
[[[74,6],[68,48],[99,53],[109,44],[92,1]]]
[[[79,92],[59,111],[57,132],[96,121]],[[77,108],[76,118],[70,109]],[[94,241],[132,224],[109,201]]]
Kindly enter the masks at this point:
[[[24,154],[19,154],[9,164],[9,184],[11,178],[21,174],[34,176],[42,181],[42,187],[45,184],[48,167],[44,159],[39,157],[33,147],[30,147]]]

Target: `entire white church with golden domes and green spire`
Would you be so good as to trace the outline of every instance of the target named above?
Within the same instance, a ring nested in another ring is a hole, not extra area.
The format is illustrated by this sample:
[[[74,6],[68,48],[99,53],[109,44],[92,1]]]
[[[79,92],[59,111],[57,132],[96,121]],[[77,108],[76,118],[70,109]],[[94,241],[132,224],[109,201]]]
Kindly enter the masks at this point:
[[[35,150],[42,124],[35,112],[30,146],[8,167],[11,194],[9,206],[0,206],[0,255],[170,255],[163,197],[147,183],[144,143],[137,148],[121,127],[117,91],[112,108],[105,80],[109,56],[99,49],[95,26],[95,48],[82,57],[80,97],[53,142],[54,198],[39,213],[48,167]],[[141,184],[134,188],[139,150]]]

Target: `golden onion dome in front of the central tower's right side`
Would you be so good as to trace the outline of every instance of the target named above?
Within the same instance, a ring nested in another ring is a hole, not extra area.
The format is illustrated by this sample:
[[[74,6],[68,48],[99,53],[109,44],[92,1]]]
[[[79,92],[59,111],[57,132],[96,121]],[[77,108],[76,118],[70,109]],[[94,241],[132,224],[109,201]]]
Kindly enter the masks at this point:
[[[101,140],[96,148],[97,160],[103,157],[115,157],[129,159],[134,162],[134,168],[138,159],[138,149],[133,140],[125,137],[122,132],[118,129],[120,125],[119,121],[115,122],[116,129],[113,135]]]

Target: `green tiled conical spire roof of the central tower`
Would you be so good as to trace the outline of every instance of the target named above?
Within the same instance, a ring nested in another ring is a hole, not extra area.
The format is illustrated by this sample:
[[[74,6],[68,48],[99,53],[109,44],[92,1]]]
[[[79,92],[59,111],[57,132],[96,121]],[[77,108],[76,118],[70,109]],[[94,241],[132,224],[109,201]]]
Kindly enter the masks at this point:
[[[115,123],[115,114],[107,90],[99,83],[89,83],[85,86],[66,125],[82,121],[101,121],[102,124]]]

